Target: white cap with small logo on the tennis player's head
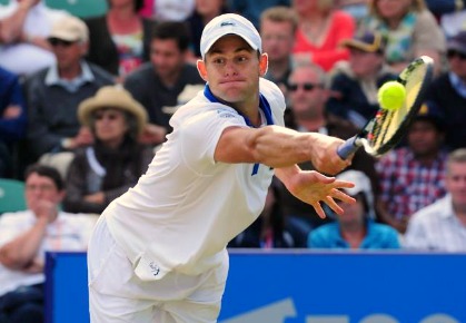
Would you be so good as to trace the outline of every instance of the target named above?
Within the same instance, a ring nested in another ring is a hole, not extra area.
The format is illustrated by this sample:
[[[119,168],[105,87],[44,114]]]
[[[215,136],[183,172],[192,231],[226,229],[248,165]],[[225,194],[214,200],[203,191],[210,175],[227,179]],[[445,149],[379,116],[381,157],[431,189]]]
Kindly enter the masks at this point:
[[[236,13],[220,14],[207,23],[200,38],[200,53],[202,58],[212,45],[221,37],[237,35],[241,37],[254,50],[262,52],[262,41],[256,27],[246,18]]]

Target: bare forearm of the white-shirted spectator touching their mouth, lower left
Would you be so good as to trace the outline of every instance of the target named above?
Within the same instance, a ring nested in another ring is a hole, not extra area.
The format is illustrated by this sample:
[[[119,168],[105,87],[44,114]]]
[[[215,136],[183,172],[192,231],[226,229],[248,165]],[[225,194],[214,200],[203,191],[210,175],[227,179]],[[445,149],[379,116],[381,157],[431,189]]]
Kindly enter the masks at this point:
[[[36,257],[47,229],[47,219],[39,218],[36,225],[0,248],[0,263],[11,270],[27,267]]]

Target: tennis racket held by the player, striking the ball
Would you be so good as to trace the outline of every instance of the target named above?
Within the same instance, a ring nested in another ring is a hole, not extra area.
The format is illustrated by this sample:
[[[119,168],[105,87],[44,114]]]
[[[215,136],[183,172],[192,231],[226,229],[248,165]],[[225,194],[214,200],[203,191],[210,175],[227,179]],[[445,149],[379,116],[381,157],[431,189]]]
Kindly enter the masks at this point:
[[[341,159],[347,159],[361,146],[367,154],[378,157],[398,145],[424,102],[433,70],[434,61],[430,57],[422,56],[412,61],[397,78],[406,89],[403,107],[397,110],[380,108],[359,134],[338,148],[337,154]]]

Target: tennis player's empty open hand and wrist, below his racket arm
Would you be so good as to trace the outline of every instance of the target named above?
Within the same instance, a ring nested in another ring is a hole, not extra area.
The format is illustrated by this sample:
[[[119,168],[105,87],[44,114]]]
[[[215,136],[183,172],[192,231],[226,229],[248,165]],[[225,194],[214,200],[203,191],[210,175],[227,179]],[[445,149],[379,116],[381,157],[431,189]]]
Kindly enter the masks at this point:
[[[337,180],[315,170],[301,170],[297,165],[277,168],[276,176],[287,189],[300,200],[311,205],[320,217],[325,217],[321,203],[327,204],[335,213],[341,214],[341,207],[335,199],[354,203],[355,199],[340,190],[354,187],[353,183]]]

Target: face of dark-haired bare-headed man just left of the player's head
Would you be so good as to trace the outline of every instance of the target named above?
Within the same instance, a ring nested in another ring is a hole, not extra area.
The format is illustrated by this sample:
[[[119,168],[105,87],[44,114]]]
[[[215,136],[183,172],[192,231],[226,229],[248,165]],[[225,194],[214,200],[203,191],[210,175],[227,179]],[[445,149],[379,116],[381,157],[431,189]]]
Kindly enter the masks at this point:
[[[185,56],[175,39],[153,39],[150,45],[150,61],[162,80],[173,81],[178,77]]]

